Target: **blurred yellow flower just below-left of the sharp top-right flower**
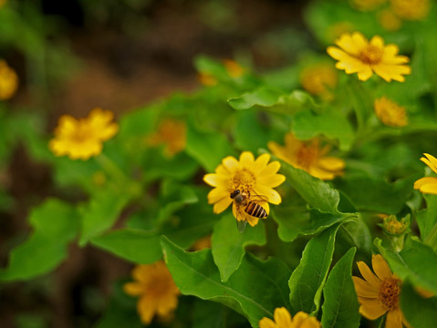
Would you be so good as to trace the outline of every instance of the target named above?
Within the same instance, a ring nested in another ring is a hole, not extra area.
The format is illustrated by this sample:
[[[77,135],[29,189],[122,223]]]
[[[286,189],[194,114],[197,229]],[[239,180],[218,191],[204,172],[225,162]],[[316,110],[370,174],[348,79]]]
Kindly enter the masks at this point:
[[[330,89],[337,87],[338,73],[328,63],[306,67],[300,74],[300,84],[310,94],[330,99]]]

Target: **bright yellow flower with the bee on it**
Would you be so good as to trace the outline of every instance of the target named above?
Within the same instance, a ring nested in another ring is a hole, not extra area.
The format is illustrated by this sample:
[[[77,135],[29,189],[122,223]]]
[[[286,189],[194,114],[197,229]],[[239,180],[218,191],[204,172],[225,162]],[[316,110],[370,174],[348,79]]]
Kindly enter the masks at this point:
[[[281,167],[279,162],[268,163],[270,155],[263,154],[257,159],[249,151],[240,155],[240,160],[232,156],[222,160],[215,173],[206,174],[203,180],[215,187],[208,194],[208,203],[213,204],[214,213],[221,213],[234,201],[231,193],[239,190],[249,201],[254,200],[269,212],[268,202],[279,204],[281,196],[273,188],[285,181],[286,177],[277,174]],[[262,200],[259,198],[262,197]],[[259,201],[258,201],[259,200]],[[236,220],[247,221],[251,226],[258,223],[258,218],[252,215],[243,215],[234,202],[233,213]]]

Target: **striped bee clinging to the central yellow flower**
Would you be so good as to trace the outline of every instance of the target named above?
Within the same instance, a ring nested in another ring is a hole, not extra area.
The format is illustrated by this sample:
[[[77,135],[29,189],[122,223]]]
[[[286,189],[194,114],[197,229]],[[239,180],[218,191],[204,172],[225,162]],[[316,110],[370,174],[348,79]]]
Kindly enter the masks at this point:
[[[267,211],[264,207],[258,204],[258,201],[268,201],[268,197],[262,195],[244,194],[241,190],[234,190],[231,192],[231,199],[234,200],[235,208],[237,210],[237,227],[238,231],[245,231],[245,225],[247,220],[251,220],[251,217],[258,219],[265,219],[267,217]],[[239,220],[242,218],[243,220]]]

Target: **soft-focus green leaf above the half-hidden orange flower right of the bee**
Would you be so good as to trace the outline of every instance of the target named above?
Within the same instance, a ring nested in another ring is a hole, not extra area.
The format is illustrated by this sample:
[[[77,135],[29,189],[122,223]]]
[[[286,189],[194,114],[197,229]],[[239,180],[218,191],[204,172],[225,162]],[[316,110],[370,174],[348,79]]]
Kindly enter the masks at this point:
[[[337,109],[326,108],[319,113],[311,110],[298,112],[292,121],[291,130],[298,139],[315,138],[323,134],[337,138],[341,150],[349,150],[354,141],[354,130],[348,118]]]

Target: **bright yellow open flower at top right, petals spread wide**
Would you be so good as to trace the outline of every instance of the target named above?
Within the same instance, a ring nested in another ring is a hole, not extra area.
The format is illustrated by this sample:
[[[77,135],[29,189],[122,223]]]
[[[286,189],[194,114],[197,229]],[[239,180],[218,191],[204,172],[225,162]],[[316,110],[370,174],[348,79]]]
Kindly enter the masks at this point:
[[[336,67],[347,74],[358,73],[359,80],[366,81],[373,72],[387,82],[403,82],[403,75],[411,74],[411,68],[403,65],[409,62],[407,56],[399,56],[396,45],[384,46],[380,36],[368,41],[359,32],[345,33],[336,40],[336,46],[328,46],[328,55],[338,60]]]

